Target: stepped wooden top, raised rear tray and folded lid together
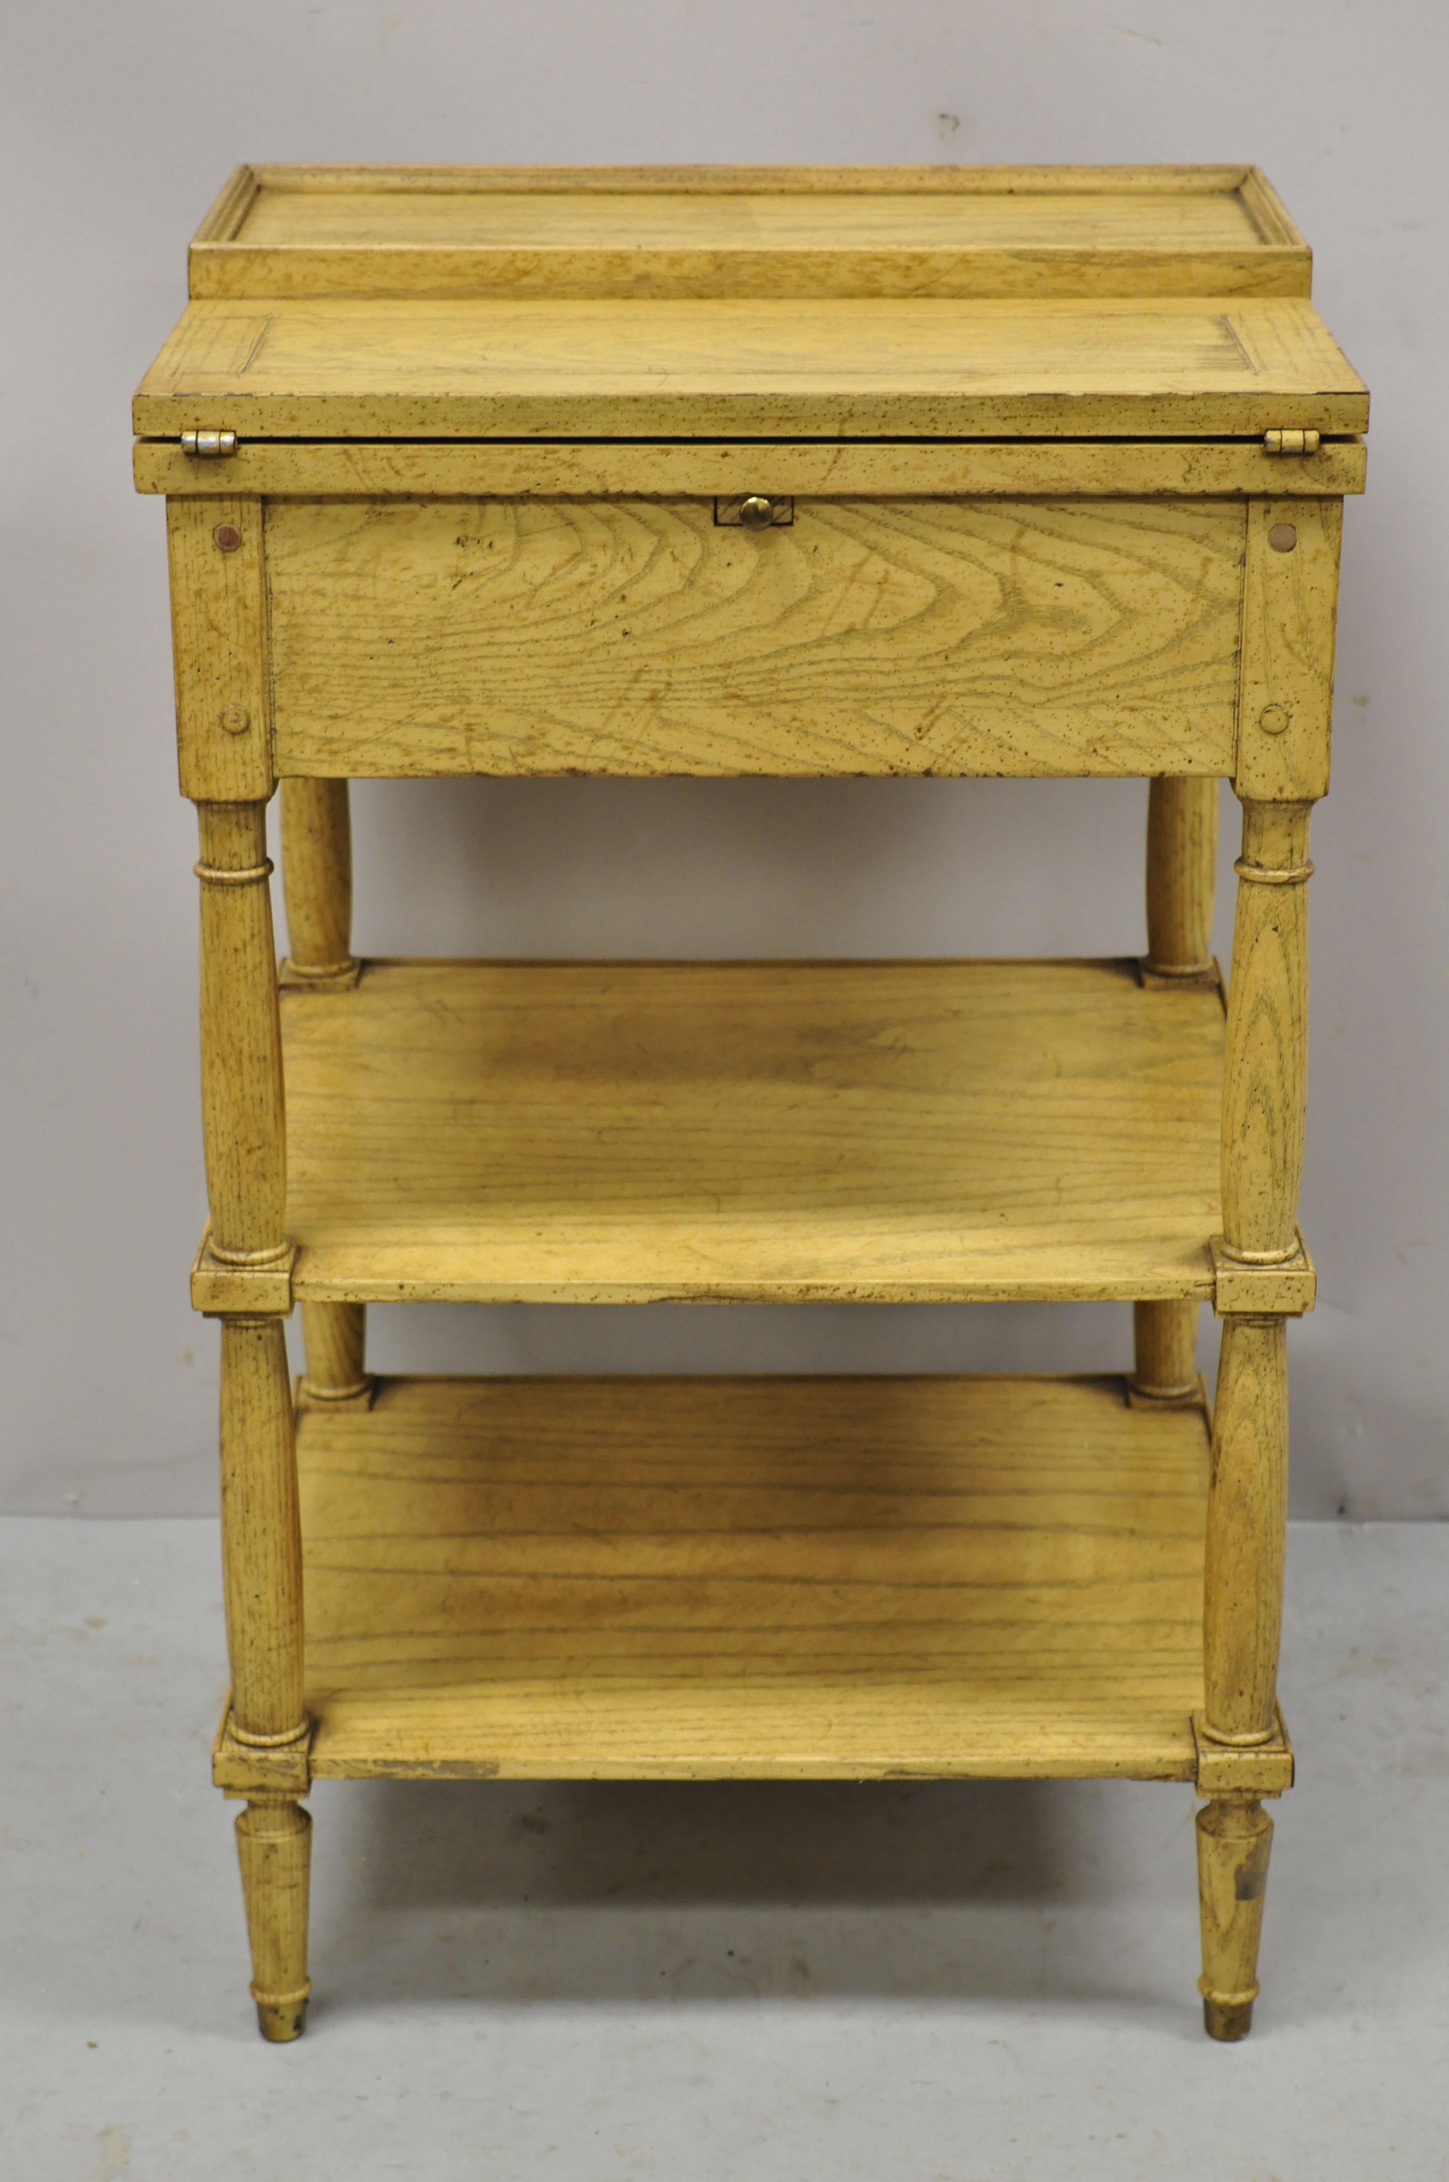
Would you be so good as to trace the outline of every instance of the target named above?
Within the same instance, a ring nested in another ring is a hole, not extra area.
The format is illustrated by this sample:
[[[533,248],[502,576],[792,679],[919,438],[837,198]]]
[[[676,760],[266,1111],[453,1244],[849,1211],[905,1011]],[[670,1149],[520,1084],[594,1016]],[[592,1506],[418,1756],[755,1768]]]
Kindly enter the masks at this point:
[[[1368,397],[1250,168],[242,168],[135,428],[1261,439]]]

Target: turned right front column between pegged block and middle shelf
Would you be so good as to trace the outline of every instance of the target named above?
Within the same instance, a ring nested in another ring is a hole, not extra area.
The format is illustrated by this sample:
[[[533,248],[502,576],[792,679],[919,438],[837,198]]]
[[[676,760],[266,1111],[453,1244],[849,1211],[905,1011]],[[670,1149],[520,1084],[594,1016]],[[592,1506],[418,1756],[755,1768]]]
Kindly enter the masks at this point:
[[[1222,1067],[1222,1248],[1298,1252],[1307,1106],[1307,803],[1244,803]]]

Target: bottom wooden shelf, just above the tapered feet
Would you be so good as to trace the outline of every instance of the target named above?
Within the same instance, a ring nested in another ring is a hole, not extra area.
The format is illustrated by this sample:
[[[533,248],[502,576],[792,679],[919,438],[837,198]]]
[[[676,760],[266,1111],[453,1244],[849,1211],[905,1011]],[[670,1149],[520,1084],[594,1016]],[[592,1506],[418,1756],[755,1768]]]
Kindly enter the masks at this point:
[[[391,1379],[299,1416],[312,1772],[1189,1781],[1202,1410]]]

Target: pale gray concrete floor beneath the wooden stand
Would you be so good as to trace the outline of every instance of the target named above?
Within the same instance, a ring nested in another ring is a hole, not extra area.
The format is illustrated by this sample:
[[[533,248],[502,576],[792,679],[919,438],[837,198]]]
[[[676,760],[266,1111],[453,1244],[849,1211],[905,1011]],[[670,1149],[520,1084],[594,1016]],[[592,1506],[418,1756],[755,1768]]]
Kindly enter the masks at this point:
[[[1449,1525],[1301,1525],[1264,1997],[1187,1789],[323,1783],[253,2031],[205,1521],[0,1523],[15,2182],[1442,2182]]]

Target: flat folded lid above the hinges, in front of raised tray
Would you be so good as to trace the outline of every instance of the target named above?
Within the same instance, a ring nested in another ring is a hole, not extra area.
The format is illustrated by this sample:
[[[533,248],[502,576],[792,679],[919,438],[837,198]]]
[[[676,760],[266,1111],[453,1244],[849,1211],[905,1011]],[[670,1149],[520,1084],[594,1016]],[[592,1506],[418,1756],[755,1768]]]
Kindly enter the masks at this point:
[[[1154,439],[1362,432],[1303,297],[190,303],[142,436]]]

